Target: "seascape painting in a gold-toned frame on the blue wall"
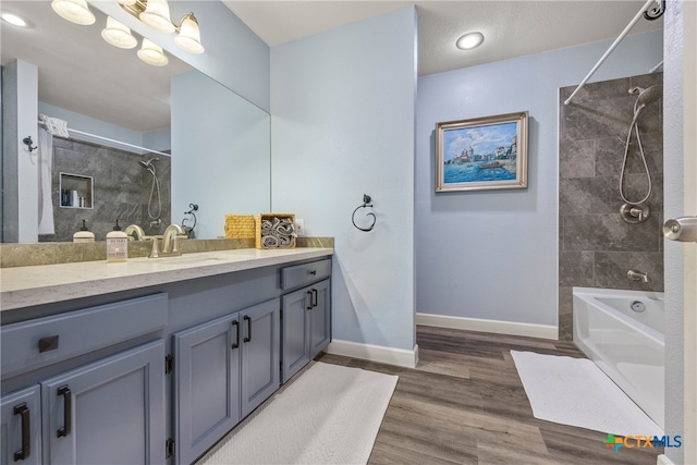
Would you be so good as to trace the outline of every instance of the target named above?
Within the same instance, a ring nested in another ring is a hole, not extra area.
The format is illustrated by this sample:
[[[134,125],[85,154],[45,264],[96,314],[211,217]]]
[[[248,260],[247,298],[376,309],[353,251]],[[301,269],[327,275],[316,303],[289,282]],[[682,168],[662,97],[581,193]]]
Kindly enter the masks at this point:
[[[436,125],[436,192],[527,187],[527,112]]]

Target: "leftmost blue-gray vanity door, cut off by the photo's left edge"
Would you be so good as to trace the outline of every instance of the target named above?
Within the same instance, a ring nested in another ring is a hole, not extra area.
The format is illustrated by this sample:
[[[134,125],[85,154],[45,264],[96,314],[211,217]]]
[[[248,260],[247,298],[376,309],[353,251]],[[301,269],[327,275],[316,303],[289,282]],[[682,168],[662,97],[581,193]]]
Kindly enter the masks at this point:
[[[41,463],[39,386],[4,395],[0,402],[0,464]]]

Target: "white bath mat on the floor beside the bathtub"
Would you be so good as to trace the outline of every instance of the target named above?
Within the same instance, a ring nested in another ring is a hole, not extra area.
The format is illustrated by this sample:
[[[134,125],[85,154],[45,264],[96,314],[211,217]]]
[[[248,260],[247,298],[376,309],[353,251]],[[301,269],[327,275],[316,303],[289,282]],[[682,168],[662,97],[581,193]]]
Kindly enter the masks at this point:
[[[517,351],[511,355],[535,418],[617,436],[663,436],[591,360]]]

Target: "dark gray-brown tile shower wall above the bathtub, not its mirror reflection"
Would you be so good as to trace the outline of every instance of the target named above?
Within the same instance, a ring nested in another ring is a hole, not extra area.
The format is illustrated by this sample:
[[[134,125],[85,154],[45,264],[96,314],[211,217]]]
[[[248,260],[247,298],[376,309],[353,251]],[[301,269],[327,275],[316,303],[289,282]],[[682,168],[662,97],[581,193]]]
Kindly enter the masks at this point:
[[[663,291],[663,109],[660,99],[639,117],[639,134],[651,173],[649,219],[629,224],[620,217],[620,172],[636,96],[635,86],[662,84],[662,73],[560,89],[559,335],[572,339],[572,287]],[[648,183],[633,132],[625,196],[639,200]],[[650,281],[629,281],[627,270]]]

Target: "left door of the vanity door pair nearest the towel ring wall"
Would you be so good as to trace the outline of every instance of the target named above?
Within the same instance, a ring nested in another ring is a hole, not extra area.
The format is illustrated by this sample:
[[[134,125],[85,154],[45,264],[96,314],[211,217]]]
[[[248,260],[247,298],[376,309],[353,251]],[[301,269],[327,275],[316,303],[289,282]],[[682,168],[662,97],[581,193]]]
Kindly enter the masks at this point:
[[[311,291],[309,287],[285,294],[282,297],[283,319],[281,325],[282,377],[283,382],[291,379],[309,360],[309,310]]]

